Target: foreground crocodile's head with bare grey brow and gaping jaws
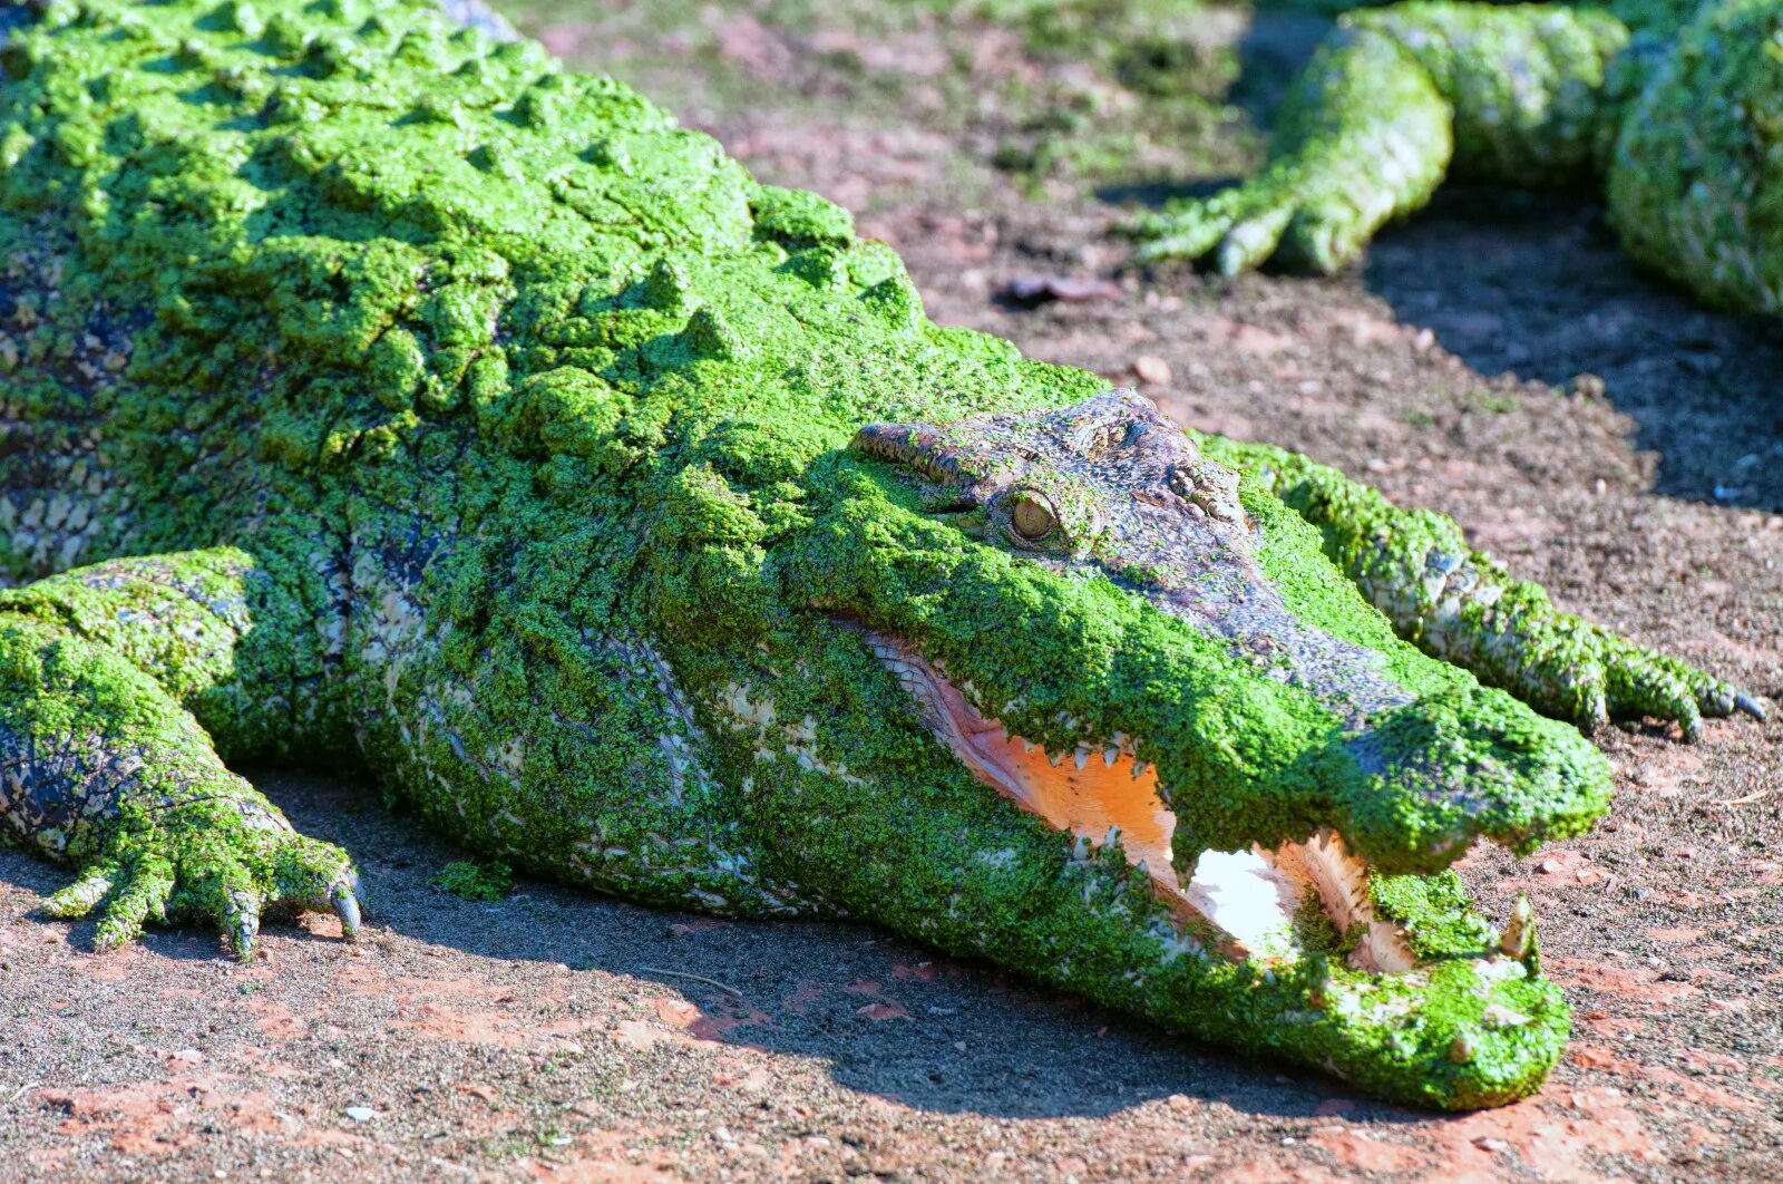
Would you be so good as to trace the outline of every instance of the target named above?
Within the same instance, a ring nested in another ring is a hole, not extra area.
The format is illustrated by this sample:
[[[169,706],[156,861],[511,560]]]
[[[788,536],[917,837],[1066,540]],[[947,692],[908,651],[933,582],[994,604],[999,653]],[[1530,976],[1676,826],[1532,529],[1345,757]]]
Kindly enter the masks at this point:
[[[1421,1104],[1533,1089],[1569,1024],[1533,918],[1448,865],[1589,826],[1596,749],[1394,638],[1132,392],[850,451],[818,604],[977,781],[1148,881],[1198,970],[1139,1011]]]

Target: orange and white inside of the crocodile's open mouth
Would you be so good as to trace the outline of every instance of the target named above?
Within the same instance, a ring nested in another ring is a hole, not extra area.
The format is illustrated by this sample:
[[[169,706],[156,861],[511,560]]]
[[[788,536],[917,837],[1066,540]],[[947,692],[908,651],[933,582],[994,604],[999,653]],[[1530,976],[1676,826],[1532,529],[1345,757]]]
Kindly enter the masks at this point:
[[[982,715],[897,635],[863,631],[874,654],[918,703],[929,729],[975,777],[1054,829],[1075,835],[1079,852],[1118,836],[1129,863],[1150,877],[1180,922],[1221,934],[1218,952],[1262,963],[1296,961],[1312,941],[1309,915],[1321,915],[1343,936],[1355,970],[1417,968],[1401,929],[1375,915],[1368,861],[1350,854],[1335,831],[1275,849],[1202,852],[1184,883],[1171,863],[1175,815],[1164,808],[1157,772],[1139,760],[1130,736],[1047,751]]]

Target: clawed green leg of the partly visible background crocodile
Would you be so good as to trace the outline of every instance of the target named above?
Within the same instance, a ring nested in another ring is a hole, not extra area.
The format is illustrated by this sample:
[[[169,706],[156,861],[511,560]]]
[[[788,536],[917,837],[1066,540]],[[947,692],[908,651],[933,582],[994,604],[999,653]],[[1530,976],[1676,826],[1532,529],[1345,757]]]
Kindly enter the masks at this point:
[[[1628,29],[1599,11],[1398,4],[1353,12],[1296,78],[1255,178],[1141,219],[1141,260],[1271,255],[1335,271],[1453,166],[1553,185],[1601,168]],[[1610,87],[1614,91],[1614,87]]]

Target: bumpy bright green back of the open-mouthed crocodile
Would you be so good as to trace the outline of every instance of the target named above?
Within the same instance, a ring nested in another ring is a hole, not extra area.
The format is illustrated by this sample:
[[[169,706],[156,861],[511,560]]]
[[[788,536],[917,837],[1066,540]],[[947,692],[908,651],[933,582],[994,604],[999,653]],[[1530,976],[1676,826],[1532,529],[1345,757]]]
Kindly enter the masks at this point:
[[[1100,385],[929,325],[845,210],[431,5],[52,5],[4,68],[12,578],[421,487],[612,505],[749,417],[783,455],[738,480],[774,481],[870,419]],[[77,483],[103,537],[25,530]]]

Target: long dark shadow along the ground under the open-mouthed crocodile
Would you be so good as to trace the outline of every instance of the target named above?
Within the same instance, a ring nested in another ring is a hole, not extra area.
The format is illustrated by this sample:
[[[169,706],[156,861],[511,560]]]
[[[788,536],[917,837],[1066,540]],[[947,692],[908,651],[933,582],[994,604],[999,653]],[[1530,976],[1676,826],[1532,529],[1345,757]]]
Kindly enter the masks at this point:
[[[1196,1109],[1218,1100],[1243,1113],[1303,1118],[1341,1098],[1352,1118],[1423,1118],[1357,1098],[1316,1073],[1225,1056],[863,925],[724,922],[540,883],[521,883],[499,902],[460,900],[428,881],[464,856],[417,820],[378,808],[374,792],[319,777],[253,779],[298,829],[353,852],[376,933],[469,956],[448,954],[442,963],[456,977],[478,977],[480,965],[483,975],[517,970],[540,979],[562,974],[560,965],[574,977],[597,970],[599,979],[572,988],[587,991],[581,1013],[603,1009],[601,993],[624,995],[626,984],[608,975],[658,983],[699,1007],[686,1025],[695,1038],[811,1059],[845,1089],[924,1111],[1098,1118],[1180,1093]],[[0,883],[46,895],[66,872],[0,851]],[[333,945],[289,924],[269,922],[266,931]],[[70,940],[87,950],[91,936],[87,920]],[[150,958],[223,958],[219,941],[198,927],[150,931],[143,945]],[[341,956],[348,959],[344,949]]]

